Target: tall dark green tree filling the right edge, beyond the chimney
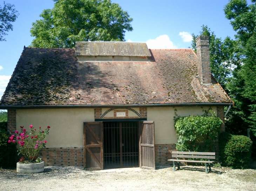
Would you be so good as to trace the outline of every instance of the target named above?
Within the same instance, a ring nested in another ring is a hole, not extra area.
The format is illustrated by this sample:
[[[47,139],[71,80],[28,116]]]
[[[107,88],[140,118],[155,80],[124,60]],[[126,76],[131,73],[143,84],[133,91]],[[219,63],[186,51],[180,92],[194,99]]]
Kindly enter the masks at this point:
[[[224,8],[224,13],[235,35],[236,49],[240,53],[240,62],[233,71],[233,78],[227,87],[230,96],[235,101],[235,107],[228,116],[228,130],[238,130],[236,134],[246,134],[246,129],[251,127],[256,135],[256,5],[251,0],[248,5],[246,0],[230,0]],[[237,126],[240,125],[239,126]]]

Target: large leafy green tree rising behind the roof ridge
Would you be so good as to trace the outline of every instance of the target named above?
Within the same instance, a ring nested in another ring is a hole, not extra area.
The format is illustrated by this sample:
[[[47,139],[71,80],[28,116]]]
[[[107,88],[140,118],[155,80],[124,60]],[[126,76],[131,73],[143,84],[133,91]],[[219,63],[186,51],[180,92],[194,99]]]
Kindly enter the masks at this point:
[[[78,41],[124,41],[132,18],[110,0],[53,0],[32,24],[31,46],[73,48]]]

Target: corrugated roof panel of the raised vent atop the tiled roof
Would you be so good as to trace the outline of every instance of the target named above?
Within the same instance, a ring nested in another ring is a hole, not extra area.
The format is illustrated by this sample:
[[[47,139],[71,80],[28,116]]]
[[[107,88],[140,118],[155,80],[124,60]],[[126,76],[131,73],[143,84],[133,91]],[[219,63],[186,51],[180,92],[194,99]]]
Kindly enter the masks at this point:
[[[146,43],[76,42],[77,56],[141,56],[150,57]]]

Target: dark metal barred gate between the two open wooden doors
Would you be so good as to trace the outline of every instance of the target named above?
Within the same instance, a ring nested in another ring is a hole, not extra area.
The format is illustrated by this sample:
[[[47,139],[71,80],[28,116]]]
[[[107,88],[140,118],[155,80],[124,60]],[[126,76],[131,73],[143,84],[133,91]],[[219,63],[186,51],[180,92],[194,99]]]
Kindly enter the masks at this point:
[[[104,168],[139,167],[138,122],[103,122]]]

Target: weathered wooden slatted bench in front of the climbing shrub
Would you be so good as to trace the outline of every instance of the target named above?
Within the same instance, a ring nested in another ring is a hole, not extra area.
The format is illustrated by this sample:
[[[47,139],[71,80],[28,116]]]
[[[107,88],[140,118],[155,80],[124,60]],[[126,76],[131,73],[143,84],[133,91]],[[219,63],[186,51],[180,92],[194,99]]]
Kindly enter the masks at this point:
[[[210,172],[211,171],[210,163],[215,162],[215,161],[210,161],[210,159],[215,159],[215,153],[172,151],[171,157],[176,158],[176,159],[168,159],[168,161],[173,161],[173,170],[176,170],[175,163],[176,163],[177,169],[180,169],[179,162],[197,162],[197,163],[204,163],[206,166],[206,173],[208,173],[207,167],[209,167],[209,172]],[[208,159],[208,161],[183,160],[186,158],[187,159]]]

